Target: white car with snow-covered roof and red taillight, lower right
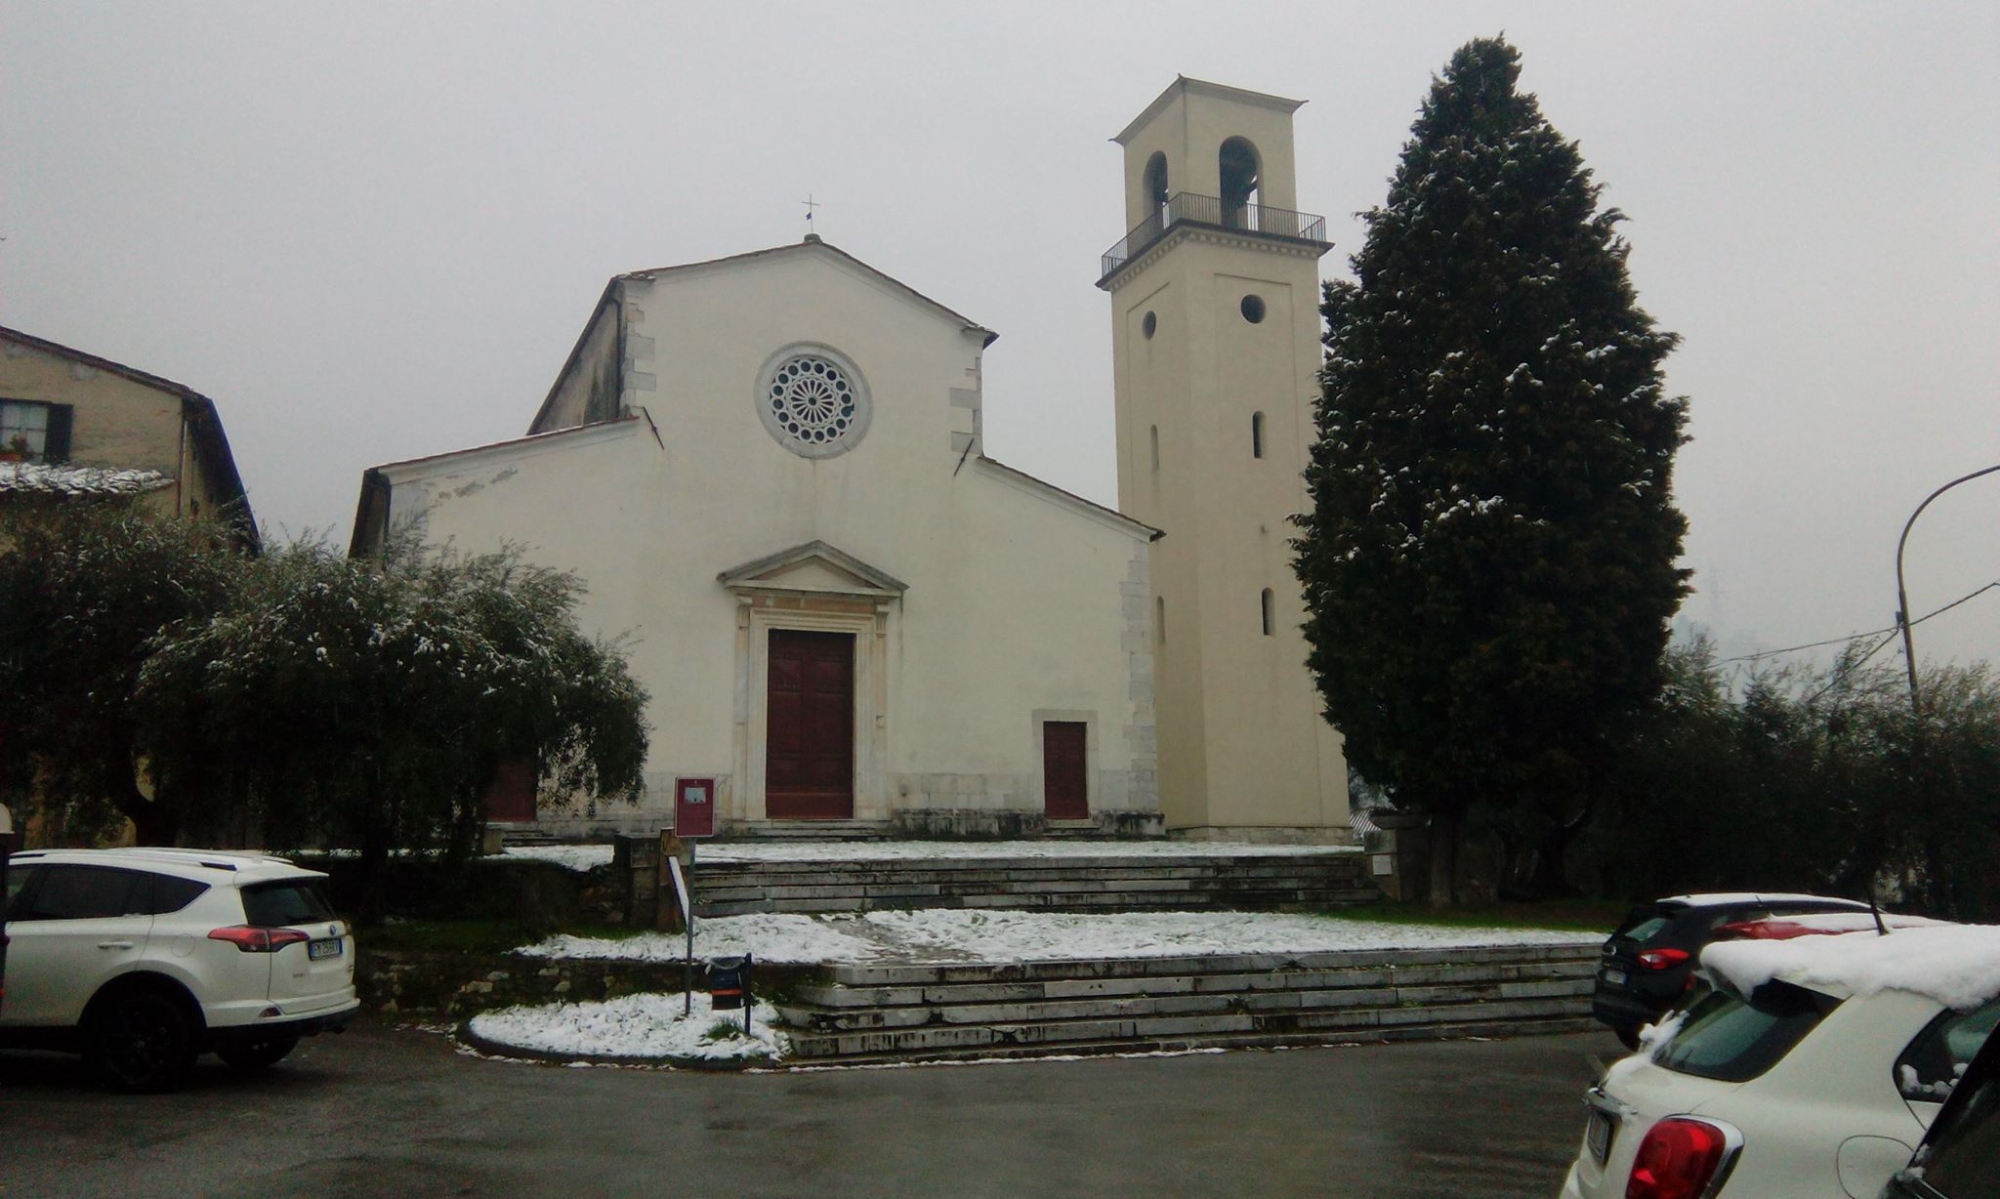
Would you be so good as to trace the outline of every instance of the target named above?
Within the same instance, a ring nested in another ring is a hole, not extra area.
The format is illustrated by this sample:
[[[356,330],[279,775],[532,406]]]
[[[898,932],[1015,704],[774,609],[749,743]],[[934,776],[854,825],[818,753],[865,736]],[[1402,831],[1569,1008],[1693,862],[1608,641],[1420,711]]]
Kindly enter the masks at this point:
[[[1564,1199],[1872,1199],[2000,1023],[2000,927],[1718,941],[1702,967],[1714,991],[1584,1095]]]

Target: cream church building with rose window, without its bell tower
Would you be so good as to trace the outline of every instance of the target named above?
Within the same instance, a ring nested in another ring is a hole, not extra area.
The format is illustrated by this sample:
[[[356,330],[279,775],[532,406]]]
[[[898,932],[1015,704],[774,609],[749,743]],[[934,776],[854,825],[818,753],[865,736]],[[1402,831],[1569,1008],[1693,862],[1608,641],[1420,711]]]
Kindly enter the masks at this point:
[[[520,544],[628,637],[646,801],[550,831],[714,779],[734,831],[1156,833],[1158,532],[982,454],[992,340],[816,238],[618,276],[528,436],[370,470],[354,550]]]

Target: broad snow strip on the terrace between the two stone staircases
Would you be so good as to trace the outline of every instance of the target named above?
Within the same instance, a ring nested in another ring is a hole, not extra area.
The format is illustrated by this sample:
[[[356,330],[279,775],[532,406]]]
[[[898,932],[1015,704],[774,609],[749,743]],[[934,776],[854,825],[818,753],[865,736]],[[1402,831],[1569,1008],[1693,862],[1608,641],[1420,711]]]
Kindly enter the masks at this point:
[[[1594,945],[1598,933],[1454,929],[1264,911],[982,911],[930,907],[862,915],[718,915],[694,925],[694,955],[754,953],[788,963],[1068,961],[1214,953],[1326,953],[1474,945]],[[528,957],[680,961],[686,937],[550,937]]]

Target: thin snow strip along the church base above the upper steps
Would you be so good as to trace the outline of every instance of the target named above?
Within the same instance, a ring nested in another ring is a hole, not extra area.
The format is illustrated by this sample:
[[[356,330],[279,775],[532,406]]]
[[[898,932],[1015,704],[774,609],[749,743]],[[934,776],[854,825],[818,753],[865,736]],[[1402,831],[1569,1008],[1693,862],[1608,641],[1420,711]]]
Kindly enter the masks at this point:
[[[1274,857],[1360,853],[1354,845],[1250,845],[1246,841],[722,841],[702,843],[702,861],[928,861],[936,857]],[[610,865],[610,845],[510,845],[502,857],[554,861],[570,869]]]

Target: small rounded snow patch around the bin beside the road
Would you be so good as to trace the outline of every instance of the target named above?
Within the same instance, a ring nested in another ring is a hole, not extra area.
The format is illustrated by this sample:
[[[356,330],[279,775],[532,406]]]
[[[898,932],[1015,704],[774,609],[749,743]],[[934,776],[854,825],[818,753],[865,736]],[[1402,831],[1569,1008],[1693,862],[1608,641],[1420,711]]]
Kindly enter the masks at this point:
[[[472,1035],[538,1053],[562,1057],[678,1057],[702,1061],[776,1059],[784,1053],[784,1033],[772,1029],[778,1011],[758,1003],[750,1037],[742,1035],[744,1013],[712,1011],[708,995],[696,991],[694,1015],[684,1017],[682,995],[626,995],[604,1003],[552,1003],[548,1007],[504,1007],[472,1017]],[[730,1021],[736,1035],[712,1035],[718,1021]]]

